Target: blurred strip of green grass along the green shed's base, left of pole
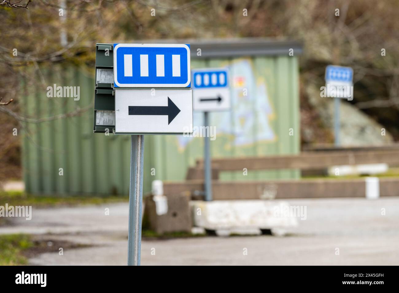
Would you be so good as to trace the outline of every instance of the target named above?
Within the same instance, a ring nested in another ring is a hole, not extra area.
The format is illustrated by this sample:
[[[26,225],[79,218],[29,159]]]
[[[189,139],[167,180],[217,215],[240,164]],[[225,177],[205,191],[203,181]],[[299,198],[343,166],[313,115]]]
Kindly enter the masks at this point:
[[[110,196],[110,197],[92,197],[92,196],[37,196],[29,195],[20,191],[0,192],[0,203],[8,203],[12,206],[36,206],[36,207],[53,207],[53,206],[76,206],[76,205],[100,205],[103,203],[119,203],[127,202],[127,196]]]

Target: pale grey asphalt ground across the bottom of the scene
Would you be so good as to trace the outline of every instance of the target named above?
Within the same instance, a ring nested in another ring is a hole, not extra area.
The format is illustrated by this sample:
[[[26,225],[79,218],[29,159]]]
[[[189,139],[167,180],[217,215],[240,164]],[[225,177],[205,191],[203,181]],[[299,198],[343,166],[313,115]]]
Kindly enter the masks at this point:
[[[286,236],[205,236],[143,239],[142,265],[398,265],[399,197],[299,199],[306,220]],[[105,215],[109,208],[109,215]],[[385,213],[385,214],[384,214]],[[32,265],[126,265],[128,204],[36,209],[12,218],[0,234],[89,247],[43,253]]]

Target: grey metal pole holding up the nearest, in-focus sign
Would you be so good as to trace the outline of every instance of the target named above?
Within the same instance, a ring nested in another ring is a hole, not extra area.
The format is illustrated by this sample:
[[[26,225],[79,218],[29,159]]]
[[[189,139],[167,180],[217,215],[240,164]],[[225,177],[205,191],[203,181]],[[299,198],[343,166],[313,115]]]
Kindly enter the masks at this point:
[[[144,136],[131,136],[128,265],[140,265]]]

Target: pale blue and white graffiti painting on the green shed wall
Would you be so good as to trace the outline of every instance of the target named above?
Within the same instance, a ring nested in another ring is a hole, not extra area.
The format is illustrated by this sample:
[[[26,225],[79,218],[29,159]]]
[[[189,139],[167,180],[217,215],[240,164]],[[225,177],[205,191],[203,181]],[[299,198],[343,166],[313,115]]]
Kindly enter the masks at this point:
[[[273,141],[276,136],[270,124],[273,108],[264,79],[255,79],[252,61],[240,59],[230,66],[231,112],[211,114],[211,125],[216,126],[216,136],[233,137],[235,146],[250,146],[254,142]],[[203,125],[203,113],[194,112],[194,128]],[[195,133],[194,133],[195,136]],[[177,136],[180,149],[194,137]]]

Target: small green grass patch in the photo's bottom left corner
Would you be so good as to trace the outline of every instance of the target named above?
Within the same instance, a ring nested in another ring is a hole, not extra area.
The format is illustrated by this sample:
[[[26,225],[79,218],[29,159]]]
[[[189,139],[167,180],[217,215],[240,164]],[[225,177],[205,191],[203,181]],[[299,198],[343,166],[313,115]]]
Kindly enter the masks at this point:
[[[30,235],[0,235],[0,265],[26,265],[23,251],[34,246]]]

